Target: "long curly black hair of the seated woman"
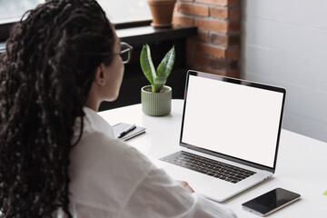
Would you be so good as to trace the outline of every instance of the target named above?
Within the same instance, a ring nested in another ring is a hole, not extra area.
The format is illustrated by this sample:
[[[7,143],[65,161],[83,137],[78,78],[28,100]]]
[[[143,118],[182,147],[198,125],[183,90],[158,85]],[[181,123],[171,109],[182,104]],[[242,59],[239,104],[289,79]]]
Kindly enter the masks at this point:
[[[69,154],[96,67],[111,64],[114,27],[95,0],[52,0],[25,13],[0,57],[0,211],[69,211]],[[91,54],[91,55],[90,55]],[[104,55],[106,54],[106,55]]]

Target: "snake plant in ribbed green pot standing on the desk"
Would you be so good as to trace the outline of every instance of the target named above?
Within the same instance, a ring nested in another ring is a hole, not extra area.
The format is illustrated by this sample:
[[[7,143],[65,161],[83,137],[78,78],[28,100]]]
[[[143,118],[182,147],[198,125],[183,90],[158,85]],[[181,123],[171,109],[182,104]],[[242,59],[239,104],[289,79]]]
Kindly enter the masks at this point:
[[[172,104],[172,88],[164,85],[172,72],[175,59],[174,46],[164,55],[162,62],[154,69],[149,45],[144,45],[140,63],[142,71],[150,82],[141,89],[141,103],[144,114],[163,116],[170,114]]]

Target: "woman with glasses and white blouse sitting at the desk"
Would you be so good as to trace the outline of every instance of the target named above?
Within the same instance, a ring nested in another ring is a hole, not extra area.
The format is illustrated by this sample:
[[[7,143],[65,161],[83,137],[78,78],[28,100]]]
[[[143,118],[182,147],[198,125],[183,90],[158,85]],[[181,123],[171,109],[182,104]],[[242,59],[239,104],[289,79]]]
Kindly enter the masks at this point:
[[[12,29],[0,60],[4,217],[233,217],[115,140],[96,114],[118,96],[120,53],[94,0],[47,1]]]

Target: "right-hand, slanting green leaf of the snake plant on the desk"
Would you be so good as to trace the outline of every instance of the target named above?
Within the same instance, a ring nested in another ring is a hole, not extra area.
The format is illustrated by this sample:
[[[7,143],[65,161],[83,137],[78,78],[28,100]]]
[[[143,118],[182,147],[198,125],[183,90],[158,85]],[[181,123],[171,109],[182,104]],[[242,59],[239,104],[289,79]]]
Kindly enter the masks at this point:
[[[174,46],[164,55],[162,62],[156,70],[156,77],[154,78],[153,93],[160,92],[163,85],[166,83],[169,74],[172,72],[175,60]]]

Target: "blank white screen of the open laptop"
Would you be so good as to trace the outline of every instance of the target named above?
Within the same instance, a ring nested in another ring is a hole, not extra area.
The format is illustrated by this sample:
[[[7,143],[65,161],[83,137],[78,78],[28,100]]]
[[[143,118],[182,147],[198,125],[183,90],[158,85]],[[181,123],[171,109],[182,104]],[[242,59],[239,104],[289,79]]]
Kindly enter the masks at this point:
[[[273,167],[283,94],[190,75],[181,142]]]

